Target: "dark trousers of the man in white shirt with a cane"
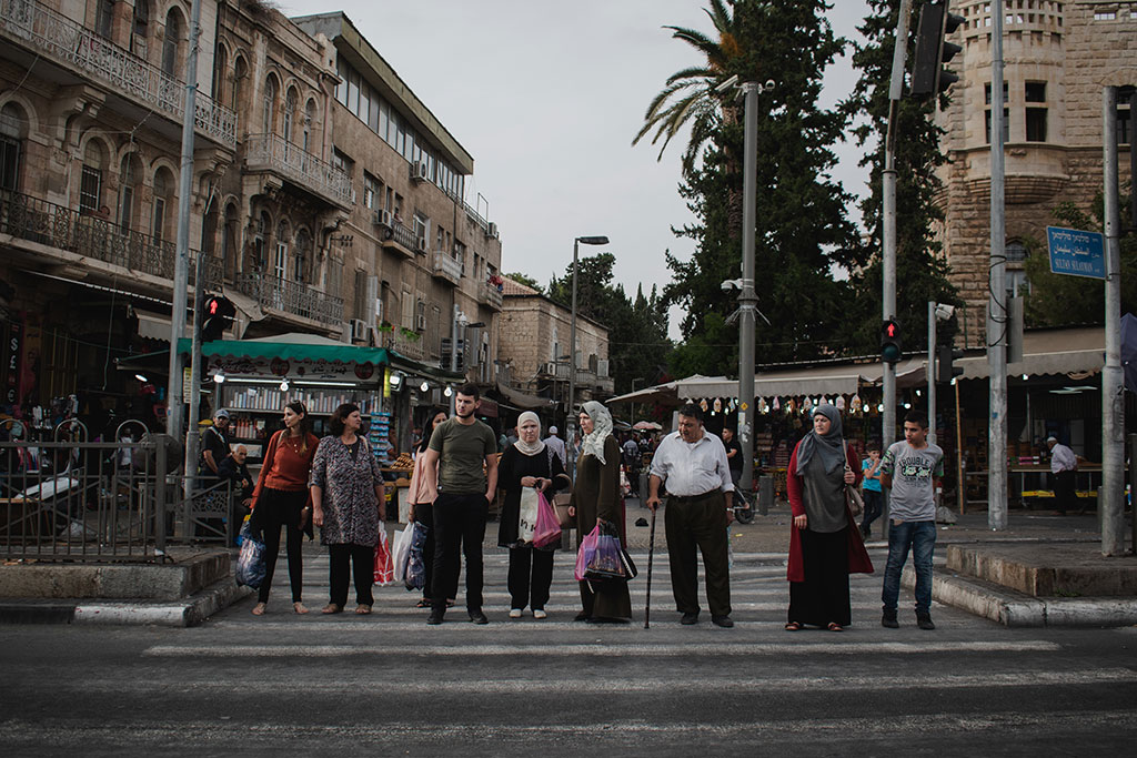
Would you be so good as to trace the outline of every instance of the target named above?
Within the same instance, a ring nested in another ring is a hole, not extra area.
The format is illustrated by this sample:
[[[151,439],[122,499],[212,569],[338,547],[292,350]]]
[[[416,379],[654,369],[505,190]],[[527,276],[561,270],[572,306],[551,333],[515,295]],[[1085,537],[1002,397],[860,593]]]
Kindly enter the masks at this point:
[[[698,613],[698,558],[703,553],[707,606],[712,616],[730,615],[727,501],[714,491],[699,498],[669,498],[664,510],[671,590],[679,613]]]

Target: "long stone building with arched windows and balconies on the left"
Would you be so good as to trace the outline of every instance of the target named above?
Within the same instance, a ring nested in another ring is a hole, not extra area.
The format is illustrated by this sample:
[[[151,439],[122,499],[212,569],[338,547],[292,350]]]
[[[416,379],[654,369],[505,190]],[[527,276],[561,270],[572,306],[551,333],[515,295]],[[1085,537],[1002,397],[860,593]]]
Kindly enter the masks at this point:
[[[9,408],[80,392],[139,415],[113,359],[168,347],[190,10],[0,0]],[[342,14],[200,13],[189,247],[238,306],[229,338],[307,332],[448,366],[460,311],[464,366],[492,383],[501,247],[463,202],[470,155]]]

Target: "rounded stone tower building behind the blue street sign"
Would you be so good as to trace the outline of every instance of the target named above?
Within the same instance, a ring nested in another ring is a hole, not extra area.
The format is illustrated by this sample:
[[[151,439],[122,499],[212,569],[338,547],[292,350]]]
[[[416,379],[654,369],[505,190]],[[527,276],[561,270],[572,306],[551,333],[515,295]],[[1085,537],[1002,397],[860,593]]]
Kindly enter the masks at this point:
[[[960,81],[939,115],[951,163],[941,169],[941,230],[952,281],[966,301],[962,331],[984,343],[990,256],[991,3],[954,0],[964,22],[949,38],[963,50],[949,67]],[[1088,211],[1102,190],[1102,88],[1137,84],[1137,3],[1093,0],[1004,2],[1006,285],[1028,285],[1030,243],[1046,255],[1054,208]],[[1121,103],[1122,185],[1129,181],[1129,105]]]

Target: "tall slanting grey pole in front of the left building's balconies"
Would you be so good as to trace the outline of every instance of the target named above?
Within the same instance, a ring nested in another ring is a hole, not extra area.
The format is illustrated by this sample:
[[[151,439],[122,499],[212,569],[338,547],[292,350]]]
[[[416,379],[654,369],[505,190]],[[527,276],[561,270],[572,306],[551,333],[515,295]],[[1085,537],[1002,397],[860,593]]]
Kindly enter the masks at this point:
[[[185,113],[182,116],[182,161],[177,185],[177,245],[174,252],[173,313],[169,317],[169,384],[166,390],[166,432],[184,439],[182,428],[182,356],[177,341],[185,332],[185,300],[190,278],[190,193],[193,191],[193,124],[198,91],[198,38],[201,33],[201,0],[192,0],[190,48],[185,61]]]

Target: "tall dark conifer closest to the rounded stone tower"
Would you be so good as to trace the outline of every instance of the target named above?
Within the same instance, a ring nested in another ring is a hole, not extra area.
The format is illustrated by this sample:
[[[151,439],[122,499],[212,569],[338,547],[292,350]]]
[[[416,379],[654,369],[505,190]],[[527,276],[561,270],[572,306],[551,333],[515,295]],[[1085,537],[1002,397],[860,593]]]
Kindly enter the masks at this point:
[[[881,294],[883,290],[881,252],[883,250],[883,214],[881,174],[885,165],[885,134],[888,128],[888,90],[893,69],[898,0],[869,0],[872,14],[860,31],[865,43],[853,53],[853,66],[861,72],[856,88],[843,103],[850,115],[862,114],[868,120],[854,130],[857,143],[875,145],[862,159],[871,166],[872,193],[861,203],[868,240],[850,249],[848,317],[841,342],[850,353],[874,353],[880,338]],[[916,28],[919,8],[912,10],[912,28]],[[914,42],[908,45],[913,59]],[[946,98],[944,98],[946,103]],[[896,117],[896,313],[904,343],[918,349],[927,342],[928,301],[958,303],[955,288],[947,280],[948,266],[939,255],[940,244],[932,234],[936,223],[944,219],[933,197],[941,183],[936,167],[946,163],[940,150],[943,130],[932,123],[933,101],[904,98]]]

